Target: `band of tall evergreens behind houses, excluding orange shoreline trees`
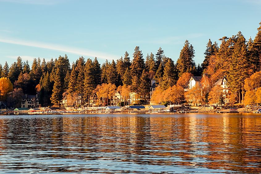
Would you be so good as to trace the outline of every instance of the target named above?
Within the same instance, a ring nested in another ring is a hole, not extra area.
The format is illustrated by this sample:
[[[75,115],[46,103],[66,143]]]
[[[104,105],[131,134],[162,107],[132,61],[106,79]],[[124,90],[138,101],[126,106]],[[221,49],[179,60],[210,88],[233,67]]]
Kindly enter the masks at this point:
[[[150,53],[144,58],[136,46],[132,61],[129,53],[125,52],[124,57],[116,62],[106,60],[100,65],[96,57],[94,60],[79,57],[70,65],[65,55],[48,62],[34,59],[30,67],[28,61],[22,62],[18,57],[10,67],[7,62],[3,67],[0,65],[0,74],[9,78],[14,88],[21,88],[24,94],[39,92],[42,106],[59,105],[65,95],[80,94],[82,101],[88,101],[96,87],[103,83],[113,84],[116,88],[125,85],[130,91],[137,92],[141,99],[147,100],[152,79],[159,83],[161,91],[174,85],[186,88],[188,77],[184,73],[195,76],[207,73],[211,85],[226,75],[230,89],[241,101],[246,92],[244,80],[261,70],[261,26],[254,40],[246,41],[241,32],[220,40],[221,45],[218,46],[209,39],[201,65],[195,64],[195,50],[186,40],[176,63],[164,55],[162,48],[155,55]]]

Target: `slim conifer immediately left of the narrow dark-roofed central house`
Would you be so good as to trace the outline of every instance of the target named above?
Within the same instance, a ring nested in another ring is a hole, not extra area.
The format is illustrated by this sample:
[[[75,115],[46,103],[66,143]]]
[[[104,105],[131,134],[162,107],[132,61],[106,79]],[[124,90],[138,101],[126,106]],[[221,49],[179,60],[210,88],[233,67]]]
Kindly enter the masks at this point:
[[[142,99],[147,99],[147,96],[149,96],[149,85],[150,85],[150,80],[148,78],[148,73],[143,70],[141,74],[141,84],[139,86],[139,93],[142,97]]]

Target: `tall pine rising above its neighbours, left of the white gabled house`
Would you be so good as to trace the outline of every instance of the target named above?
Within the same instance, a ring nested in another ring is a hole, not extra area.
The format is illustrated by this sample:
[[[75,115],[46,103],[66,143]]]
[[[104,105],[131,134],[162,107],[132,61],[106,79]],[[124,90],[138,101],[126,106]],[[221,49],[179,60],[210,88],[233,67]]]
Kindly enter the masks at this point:
[[[196,65],[193,60],[194,54],[195,50],[193,46],[190,45],[188,40],[186,40],[177,60],[177,69],[179,70],[179,77],[185,72],[190,72],[194,74],[193,71],[196,70]]]

